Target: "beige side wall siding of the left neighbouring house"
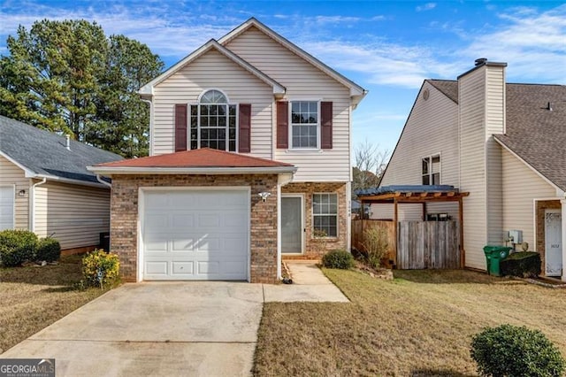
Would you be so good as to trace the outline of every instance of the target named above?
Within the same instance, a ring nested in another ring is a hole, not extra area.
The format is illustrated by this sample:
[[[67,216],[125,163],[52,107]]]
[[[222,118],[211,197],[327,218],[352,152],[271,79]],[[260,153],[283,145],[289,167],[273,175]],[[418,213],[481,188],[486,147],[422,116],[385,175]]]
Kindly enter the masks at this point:
[[[97,245],[110,229],[110,190],[48,181],[35,188],[35,233],[61,249]]]

